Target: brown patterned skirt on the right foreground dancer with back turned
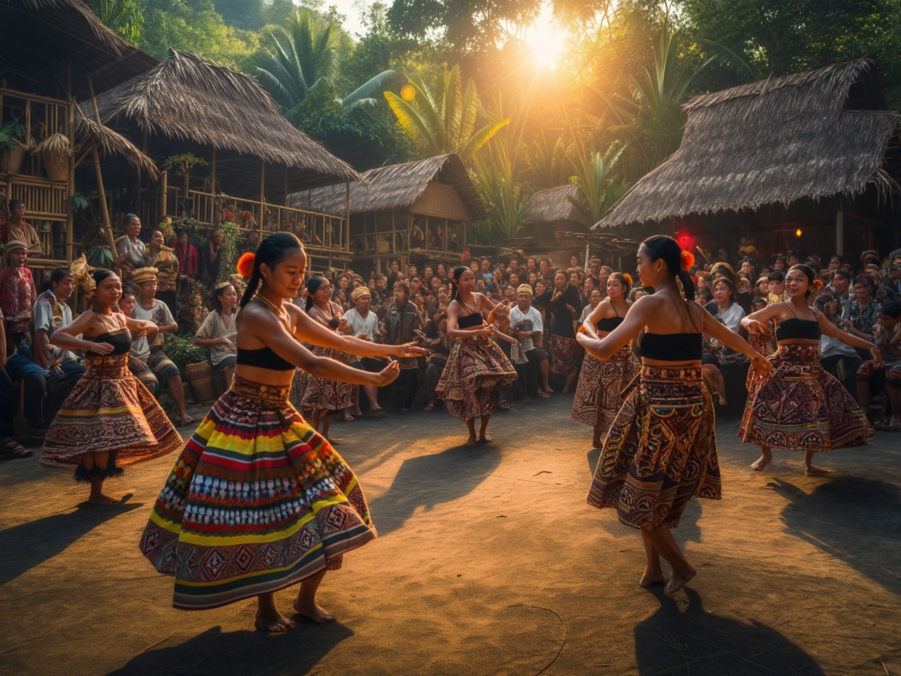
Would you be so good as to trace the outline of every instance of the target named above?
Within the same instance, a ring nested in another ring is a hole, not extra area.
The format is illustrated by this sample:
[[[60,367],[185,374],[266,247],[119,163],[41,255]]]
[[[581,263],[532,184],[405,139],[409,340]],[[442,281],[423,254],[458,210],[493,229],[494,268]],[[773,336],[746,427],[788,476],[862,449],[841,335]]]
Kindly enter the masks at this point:
[[[718,500],[714,405],[696,367],[642,366],[607,434],[588,504],[633,528],[675,528],[693,495]]]

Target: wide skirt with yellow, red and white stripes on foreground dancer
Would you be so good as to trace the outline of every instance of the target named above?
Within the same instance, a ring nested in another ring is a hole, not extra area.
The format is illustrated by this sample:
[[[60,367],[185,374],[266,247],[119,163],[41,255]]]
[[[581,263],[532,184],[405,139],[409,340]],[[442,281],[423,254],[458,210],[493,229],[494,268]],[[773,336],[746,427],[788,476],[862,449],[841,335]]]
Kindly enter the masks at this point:
[[[353,471],[288,390],[233,379],[169,473],[141,552],[175,576],[173,606],[284,589],[376,537]]]

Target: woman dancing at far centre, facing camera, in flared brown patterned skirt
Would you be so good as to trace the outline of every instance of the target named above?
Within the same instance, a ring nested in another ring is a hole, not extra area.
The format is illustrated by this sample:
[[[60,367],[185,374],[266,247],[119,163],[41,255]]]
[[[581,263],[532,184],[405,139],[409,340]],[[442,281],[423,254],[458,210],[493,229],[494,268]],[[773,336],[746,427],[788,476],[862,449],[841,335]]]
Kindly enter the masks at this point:
[[[466,422],[466,445],[475,446],[476,418],[480,420],[478,441],[494,441],[486,428],[497,406],[498,389],[516,379],[513,364],[491,336],[508,343],[516,339],[482,319],[482,313],[496,304],[475,292],[476,276],[471,269],[463,265],[454,269],[452,285],[447,335],[457,342],[451,347],[435,392],[451,416]]]

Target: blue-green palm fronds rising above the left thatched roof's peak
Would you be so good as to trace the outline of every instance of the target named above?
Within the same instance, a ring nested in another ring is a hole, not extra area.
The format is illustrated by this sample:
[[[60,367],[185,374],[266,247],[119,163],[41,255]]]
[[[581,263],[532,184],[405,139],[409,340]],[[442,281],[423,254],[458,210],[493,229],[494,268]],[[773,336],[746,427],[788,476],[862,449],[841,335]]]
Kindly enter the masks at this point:
[[[255,59],[256,75],[289,122],[299,122],[307,96],[331,86],[338,46],[338,24],[323,23],[307,9],[298,9],[287,29],[269,33],[268,48]]]

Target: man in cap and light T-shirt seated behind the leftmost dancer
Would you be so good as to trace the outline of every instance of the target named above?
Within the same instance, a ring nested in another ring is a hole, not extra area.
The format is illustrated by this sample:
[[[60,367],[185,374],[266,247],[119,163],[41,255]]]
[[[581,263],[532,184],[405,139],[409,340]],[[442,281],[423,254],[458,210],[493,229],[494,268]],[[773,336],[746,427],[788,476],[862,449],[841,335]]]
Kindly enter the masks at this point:
[[[181,373],[166,356],[166,352],[163,352],[163,333],[175,333],[178,330],[178,324],[168,306],[157,300],[158,271],[156,268],[138,268],[132,273],[132,281],[138,286],[138,296],[134,299],[132,317],[139,321],[156,324],[157,330],[147,343],[134,341],[131,355],[133,359],[144,362],[147,368],[153,371],[153,377],[159,383],[158,388],[168,385],[169,392],[172,393],[172,398],[175,399],[178,407],[178,416],[180,417],[178,425],[188,425],[194,422],[194,418],[187,415],[185,386],[181,382]]]

